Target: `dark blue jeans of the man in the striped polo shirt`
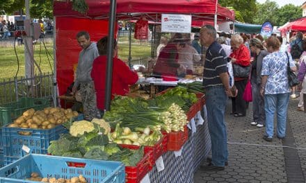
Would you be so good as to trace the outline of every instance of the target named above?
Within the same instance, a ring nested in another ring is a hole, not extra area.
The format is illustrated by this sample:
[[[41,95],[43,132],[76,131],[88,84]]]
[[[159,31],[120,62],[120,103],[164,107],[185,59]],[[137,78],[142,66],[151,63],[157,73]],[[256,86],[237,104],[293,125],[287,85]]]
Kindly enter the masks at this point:
[[[225,125],[225,106],[227,95],[223,86],[205,88],[207,119],[211,137],[212,164],[225,166],[227,162],[227,133]]]

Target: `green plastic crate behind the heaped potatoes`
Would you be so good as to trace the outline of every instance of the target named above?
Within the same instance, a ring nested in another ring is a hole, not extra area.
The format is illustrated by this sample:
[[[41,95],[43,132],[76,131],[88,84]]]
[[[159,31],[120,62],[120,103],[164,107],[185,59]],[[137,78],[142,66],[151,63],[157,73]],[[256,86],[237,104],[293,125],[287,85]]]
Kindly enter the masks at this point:
[[[33,108],[34,110],[42,110],[49,107],[49,101],[45,98],[23,97],[13,103],[0,105],[0,125],[12,123],[13,119],[17,119],[23,112]]]

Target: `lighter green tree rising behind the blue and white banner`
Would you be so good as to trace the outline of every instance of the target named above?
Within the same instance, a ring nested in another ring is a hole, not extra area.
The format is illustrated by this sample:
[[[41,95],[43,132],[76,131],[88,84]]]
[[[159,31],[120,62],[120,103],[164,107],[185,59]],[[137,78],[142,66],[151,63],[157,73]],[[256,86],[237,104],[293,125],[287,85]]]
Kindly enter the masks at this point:
[[[270,21],[273,26],[277,24],[278,5],[275,1],[267,0],[265,3],[257,3],[257,13],[253,19],[255,24],[264,24]]]

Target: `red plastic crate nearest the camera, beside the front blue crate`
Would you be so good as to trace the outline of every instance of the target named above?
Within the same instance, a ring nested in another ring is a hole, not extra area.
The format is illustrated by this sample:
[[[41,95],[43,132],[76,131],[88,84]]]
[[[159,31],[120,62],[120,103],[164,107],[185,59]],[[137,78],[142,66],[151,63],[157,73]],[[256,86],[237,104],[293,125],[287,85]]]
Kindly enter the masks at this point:
[[[139,148],[139,146],[137,147]],[[127,183],[138,183],[147,175],[150,171],[150,153],[145,154],[136,166],[125,166],[125,181]]]

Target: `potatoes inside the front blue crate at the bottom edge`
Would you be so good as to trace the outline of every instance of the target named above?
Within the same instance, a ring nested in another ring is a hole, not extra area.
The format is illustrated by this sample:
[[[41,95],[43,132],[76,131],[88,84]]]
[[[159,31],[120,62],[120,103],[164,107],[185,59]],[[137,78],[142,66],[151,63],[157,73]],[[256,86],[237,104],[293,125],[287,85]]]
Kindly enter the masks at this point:
[[[49,182],[49,183],[86,183],[85,177],[83,175],[79,175],[79,177],[72,177],[71,179],[56,179],[54,177],[40,177],[38,173],[31,173],[31,177],[27,178],[26,180],[33,180],[38,182]]]

